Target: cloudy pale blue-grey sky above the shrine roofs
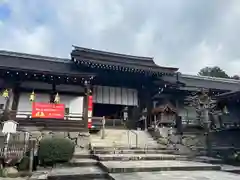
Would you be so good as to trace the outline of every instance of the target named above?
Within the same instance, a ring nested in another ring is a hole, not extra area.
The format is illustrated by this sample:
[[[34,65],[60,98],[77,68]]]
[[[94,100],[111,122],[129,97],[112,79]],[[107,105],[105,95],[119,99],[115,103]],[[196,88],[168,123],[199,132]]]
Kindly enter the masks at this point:
[[[0,49],[68,57],[73,44],[240,75],[240,0],[0,0]]]

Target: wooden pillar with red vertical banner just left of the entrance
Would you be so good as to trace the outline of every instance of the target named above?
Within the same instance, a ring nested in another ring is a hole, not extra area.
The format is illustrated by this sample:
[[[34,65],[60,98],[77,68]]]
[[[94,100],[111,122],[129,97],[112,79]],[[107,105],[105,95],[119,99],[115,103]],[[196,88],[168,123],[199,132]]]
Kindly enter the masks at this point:
[[[83,102],[83,122],[84,122],[84,129],[88,131],[88,101],[89,101],[89,95],[91,93],[90,90],[90,82],[85,81],[84,82],[84,88],[85,88],[85,96],[84,96],[84,102]]]

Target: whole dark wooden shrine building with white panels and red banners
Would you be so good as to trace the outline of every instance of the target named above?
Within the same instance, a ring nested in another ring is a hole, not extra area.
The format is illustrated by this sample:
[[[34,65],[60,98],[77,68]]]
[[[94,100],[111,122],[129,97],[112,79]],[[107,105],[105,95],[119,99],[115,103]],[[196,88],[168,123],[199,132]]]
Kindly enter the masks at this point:
[[[146,127],[178,117],[194,123],[195,110],[184,99],[202,88],[219,96],[238,123],[237,98],[224,94],[239,87],[237,80],[181,74],[151,57],[76,46],[70,59],[0,51],[1,118],[22,129],[87,131],[101,117],[123,120],[127,128],[137,128],[142,117]]]

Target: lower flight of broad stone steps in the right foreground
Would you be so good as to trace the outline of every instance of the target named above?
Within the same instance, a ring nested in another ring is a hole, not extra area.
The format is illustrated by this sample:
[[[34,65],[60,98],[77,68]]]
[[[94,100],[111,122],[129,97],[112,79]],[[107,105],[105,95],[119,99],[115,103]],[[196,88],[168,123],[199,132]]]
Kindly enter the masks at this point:
[[[239,176],[222,172],[222,165],[192,161],[183,155],[166,153],[166,149],[149,148],[148,150],[118,148],[112,151],[103,147],[96,149],[93,158],[98,167],[107,173],[106,179],[233,179]],[[153,153],[153,151],[155,153]],[[107,153],[108,152],[108,153]],[[150,152],[150,153],[149,153]],[[204,158],[202,158],[204,159]],[[218,178],[217,178],[218,177]]]

